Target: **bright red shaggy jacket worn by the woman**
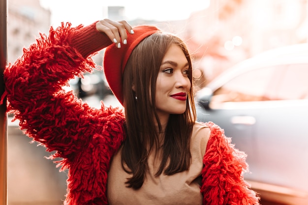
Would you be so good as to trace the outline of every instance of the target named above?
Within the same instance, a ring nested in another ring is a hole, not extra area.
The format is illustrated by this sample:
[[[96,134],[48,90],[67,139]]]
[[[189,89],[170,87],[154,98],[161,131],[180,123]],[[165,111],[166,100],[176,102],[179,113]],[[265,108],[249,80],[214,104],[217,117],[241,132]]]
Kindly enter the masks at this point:
[[[109,38],[88,27],[67,23],[41,34],[24,55],[4,71],[8,111],[34,141],[56,151],[59,165],[69,169],[65,205],[107,205],[106,182],[110,160],[125,140],[123,112],[91,108],[65,92],[74,75],[95,67],[93,53],[110,45]],[[201,192],[204,205],[257,205],[243,173],[246,155],[237,150],[214,123],[203,159]]]

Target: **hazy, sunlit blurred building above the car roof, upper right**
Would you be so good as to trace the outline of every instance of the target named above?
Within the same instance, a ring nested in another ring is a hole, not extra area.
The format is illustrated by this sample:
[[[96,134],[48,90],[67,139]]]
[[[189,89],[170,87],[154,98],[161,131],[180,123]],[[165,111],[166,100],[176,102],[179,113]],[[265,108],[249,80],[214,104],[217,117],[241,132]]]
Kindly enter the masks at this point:
[[[308,0],[210,0],[186,25],[206,82],[263,51],[308,41]]]

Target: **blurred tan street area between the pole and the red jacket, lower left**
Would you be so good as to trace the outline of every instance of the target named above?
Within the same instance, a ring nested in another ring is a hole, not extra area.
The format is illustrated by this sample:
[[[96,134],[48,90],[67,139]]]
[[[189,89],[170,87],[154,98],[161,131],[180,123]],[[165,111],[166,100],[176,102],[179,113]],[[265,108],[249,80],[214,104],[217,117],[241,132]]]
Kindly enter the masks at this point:
[[[62,205],[66,193],[66,173],[59,172],[51,153],[19,129],[8,118],[7,180],[8,205]]]

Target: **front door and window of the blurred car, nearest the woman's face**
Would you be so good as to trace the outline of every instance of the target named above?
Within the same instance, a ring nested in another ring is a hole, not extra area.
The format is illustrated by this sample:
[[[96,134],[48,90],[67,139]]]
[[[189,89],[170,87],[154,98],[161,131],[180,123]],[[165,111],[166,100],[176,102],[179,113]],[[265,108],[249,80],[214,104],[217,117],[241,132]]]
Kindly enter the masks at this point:
[[[267,105],[260,102],[267,100],[265,93],[268,87],[277,85],[273,77],[279,73],[278,69],[280,68],[272,66],[247,70],[229,79],[224,76],[228,80],[212,84],[214,92],[210,109],[205,110],[200,106],[197,108],[198,120],[218,124],[225,130],[226,136],[232,138],[235,147],[246,152],[251,174],[245,177],[249,180],[262,180],[258,129],[262,129],[259,123],[264,115],[262,110]]]

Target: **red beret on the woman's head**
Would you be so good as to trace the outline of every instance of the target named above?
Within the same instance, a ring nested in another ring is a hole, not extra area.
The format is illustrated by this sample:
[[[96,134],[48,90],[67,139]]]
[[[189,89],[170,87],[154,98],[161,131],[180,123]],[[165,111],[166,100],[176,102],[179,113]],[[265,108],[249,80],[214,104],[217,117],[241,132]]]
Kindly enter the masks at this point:
[[[127,60],[134,48],[146,37],[158,32],[154,26],[137,26],[133,28],[134,34],[127,33],[127,44],[116,47],[116,43],[108,46],[104,55],[104,72],[114,95],[123,105],[123,72]]]

